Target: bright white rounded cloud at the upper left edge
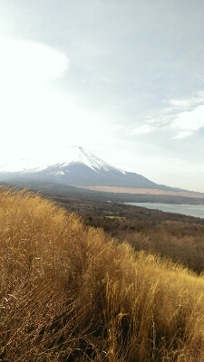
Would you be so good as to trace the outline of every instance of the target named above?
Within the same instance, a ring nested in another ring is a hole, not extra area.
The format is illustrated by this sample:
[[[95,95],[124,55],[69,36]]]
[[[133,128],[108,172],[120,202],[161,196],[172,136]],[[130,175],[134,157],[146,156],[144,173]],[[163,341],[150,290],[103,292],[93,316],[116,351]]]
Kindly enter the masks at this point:
[[[68,68],[68,58],[42,43],[0,37],[1,88],[51,81]]]

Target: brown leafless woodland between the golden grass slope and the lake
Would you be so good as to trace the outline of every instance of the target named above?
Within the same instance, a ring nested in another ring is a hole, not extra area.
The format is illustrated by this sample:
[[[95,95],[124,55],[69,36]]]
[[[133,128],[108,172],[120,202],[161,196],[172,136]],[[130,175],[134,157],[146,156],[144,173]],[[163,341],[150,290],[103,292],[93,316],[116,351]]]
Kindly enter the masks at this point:
[[[156,252],[191,271],[204,273],[204,219],[107,202],[109,199],[104,201],[102,196],[49,196],[68,211],[81,214],[85,225],[102,227],[136,251]]]

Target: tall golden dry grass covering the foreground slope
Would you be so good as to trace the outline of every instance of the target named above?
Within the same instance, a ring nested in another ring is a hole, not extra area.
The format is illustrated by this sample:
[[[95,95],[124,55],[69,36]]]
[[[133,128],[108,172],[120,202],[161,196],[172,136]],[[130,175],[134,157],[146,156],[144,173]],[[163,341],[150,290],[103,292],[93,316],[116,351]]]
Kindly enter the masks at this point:
[[[204,360],[204,279],[0,192],[0,360]]]

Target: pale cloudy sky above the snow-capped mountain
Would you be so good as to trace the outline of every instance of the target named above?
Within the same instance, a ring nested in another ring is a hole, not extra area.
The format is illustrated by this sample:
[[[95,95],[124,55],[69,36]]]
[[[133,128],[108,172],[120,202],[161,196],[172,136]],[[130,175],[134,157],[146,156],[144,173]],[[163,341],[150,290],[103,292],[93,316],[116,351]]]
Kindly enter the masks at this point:
[[[0,165],[68,146],[204,192],[202,0],[0,0]]]

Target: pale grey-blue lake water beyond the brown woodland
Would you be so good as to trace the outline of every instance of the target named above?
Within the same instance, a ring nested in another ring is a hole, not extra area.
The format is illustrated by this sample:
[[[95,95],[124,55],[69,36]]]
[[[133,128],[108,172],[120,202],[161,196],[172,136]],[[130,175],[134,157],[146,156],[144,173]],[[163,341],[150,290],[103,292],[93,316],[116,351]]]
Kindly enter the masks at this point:
[[[157,203],[125,203],[126,205],[134,205],[147,207],[148,209],[157,209],[167,213],[186,214],[189,216],[201,217],[204,219],[204,205],[186,205],[186,204],[157,204]]]

